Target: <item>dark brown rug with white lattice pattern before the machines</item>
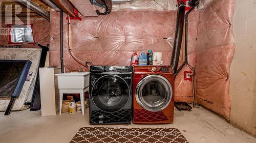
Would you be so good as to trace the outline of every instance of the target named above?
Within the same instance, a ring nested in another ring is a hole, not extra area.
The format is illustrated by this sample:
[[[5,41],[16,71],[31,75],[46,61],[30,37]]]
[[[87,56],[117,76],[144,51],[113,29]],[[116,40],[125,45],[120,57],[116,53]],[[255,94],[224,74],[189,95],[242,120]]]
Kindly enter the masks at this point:
[[[188,141],[176,128],[105,128],[82,127],[70,142],[133,143],[133,142],[176,142]]]

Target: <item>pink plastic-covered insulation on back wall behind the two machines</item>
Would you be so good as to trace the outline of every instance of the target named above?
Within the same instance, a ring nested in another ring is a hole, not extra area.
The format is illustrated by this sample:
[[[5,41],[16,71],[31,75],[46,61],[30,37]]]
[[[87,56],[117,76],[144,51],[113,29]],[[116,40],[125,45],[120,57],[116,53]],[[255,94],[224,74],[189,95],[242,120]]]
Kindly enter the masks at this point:
[[[153,52],[162,52],[163,64],[169,65],[175,36],[176,14],[176,11],[122,10],[98,17],[82,17],[82,21],[71,20],[72,50],[78,59],[91,61],[94,65],[128,66],[134,50],[140,53],[152,49]],[[79,65],[68,51],[66,16],[63,18],[63,60],[65,68],[73,71],[78,70]],[[50,19],[50,66],[59,67],[59,13],[51,12]],[[198,12],[192,12],[188,28],[188,56],[193,66],[196,62],[198,20]],[[181,54],[180,65],[183,61],[182,56]],[[191,102],[191,82],[183,80],[184,70],[175,82],[175,99]]]

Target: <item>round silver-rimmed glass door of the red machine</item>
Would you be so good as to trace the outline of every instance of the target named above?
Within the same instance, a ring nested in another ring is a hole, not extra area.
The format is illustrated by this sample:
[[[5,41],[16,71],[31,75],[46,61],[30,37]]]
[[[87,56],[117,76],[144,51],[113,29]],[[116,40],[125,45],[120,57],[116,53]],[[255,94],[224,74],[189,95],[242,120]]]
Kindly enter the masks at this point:
[[[153,112],[161,111],[172,100],[172,85],[161,75],[148,75],[137,84],[135,97],[142,108]]]

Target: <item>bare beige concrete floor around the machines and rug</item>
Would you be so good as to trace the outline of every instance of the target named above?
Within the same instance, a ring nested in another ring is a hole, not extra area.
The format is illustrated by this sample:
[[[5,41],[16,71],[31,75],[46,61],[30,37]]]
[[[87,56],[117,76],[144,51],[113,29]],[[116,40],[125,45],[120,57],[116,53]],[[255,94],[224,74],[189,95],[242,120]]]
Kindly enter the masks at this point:
[[[0,112],[0,142],[69,142],[80,127],[89,125],[86,115],[63,113],[61,116],[41,117],[40,111],[16,111],[10,116]],[[183,114],[184,113],[184,114]],[[193,111],[175,110],[173,124],[164,125],[104,125],[109,127],[172,127],[178,128],[191,143],[199,142],[246,142],[254,143],[256,138],[231,126],[214,113],[199,107]],[[94,125],[102,126],[102,125]]]

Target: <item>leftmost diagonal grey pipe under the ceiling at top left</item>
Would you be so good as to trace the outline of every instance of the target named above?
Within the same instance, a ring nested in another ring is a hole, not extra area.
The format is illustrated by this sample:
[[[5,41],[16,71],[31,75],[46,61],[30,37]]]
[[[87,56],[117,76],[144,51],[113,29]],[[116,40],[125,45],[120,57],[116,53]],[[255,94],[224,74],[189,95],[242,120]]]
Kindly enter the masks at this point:
[[[47,20],[50,19],[50,16],[49,16],[50,14],[47,11],[45,11],[44,9],[42,9],[41,7],[37,6],[35,3],[33,3],[29,0],[17,0],[17,1],[22,3],[27,8],[30,8],[31,10],[35,11],[39,15],[45,17]]]

